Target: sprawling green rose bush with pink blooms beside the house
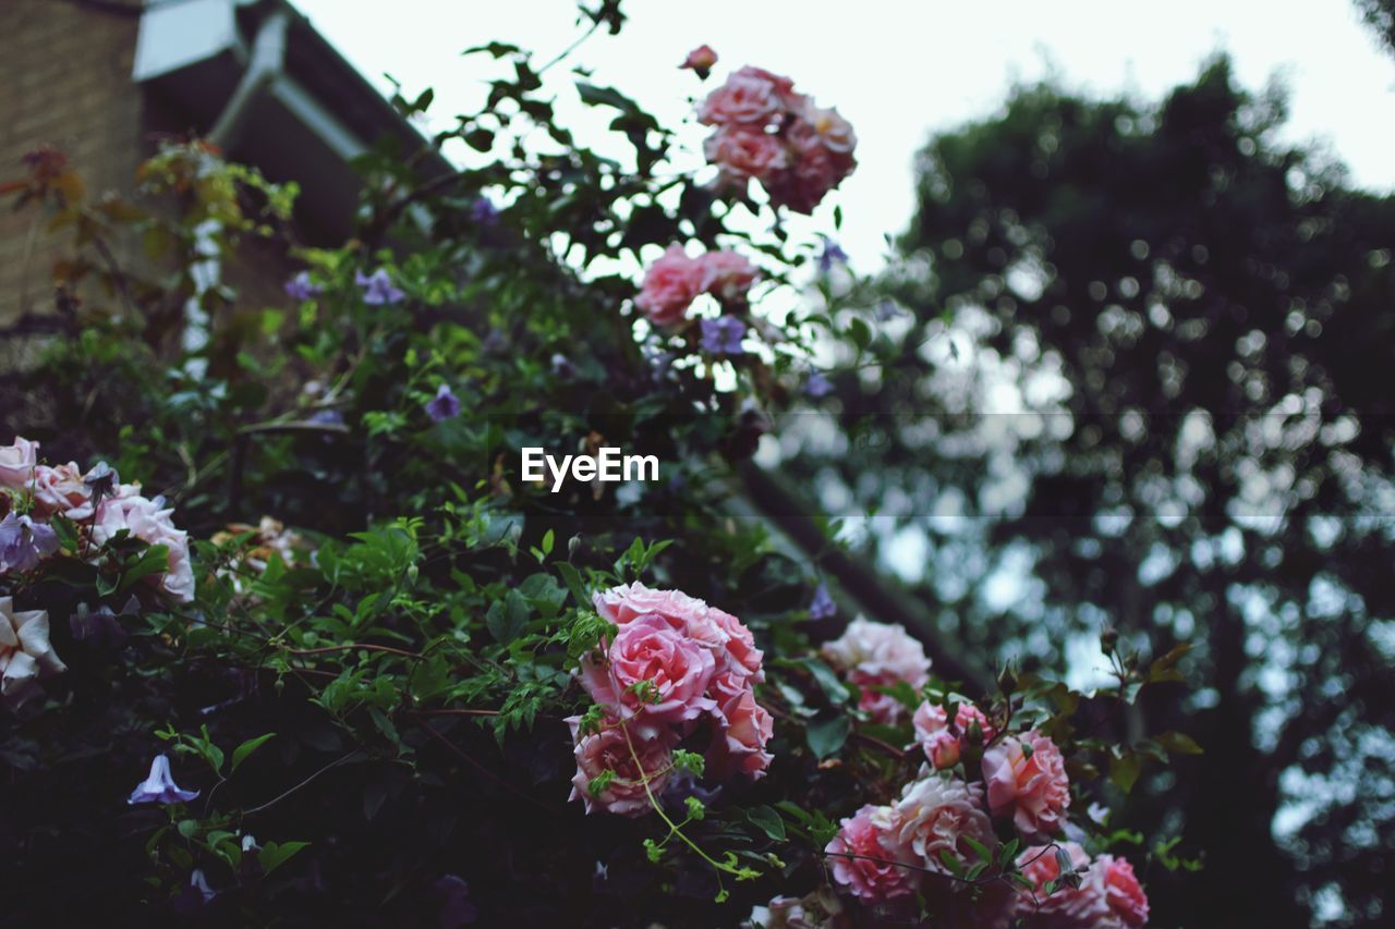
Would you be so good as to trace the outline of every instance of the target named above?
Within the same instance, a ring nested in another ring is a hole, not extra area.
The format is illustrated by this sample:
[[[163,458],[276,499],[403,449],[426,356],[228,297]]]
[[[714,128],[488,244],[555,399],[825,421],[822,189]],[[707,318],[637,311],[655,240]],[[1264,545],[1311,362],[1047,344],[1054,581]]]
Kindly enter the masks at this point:
[[[481,165],[371,152],[338,247],[201,142],[166,144],[137,202],[84,201],[49,149],[6,187],[78,230],[61,293],[107,294],[3,414],[39,442],[0,446],[0,841],[17,887],[73,887],[15,918],[1141,925],[1137,844],[1085,810],[1194,748],[1116,717],[1176,658],[1112,647],[1091,693],[940,679],[925,629],[840,624],[837,561],[738,518],[774,414],[827,393],[815,342],[872,332],[826,287],[762,305],[831,264],[778,218],[852,170],[851,127],[742,68],[699,110],[717,180],[674,180],[678,137],[629,96],[566,88],[612,120],[594,151],[557,71],[473,54],[485,103],[423,151]],[[769,232],[727,222],[752,179]],[[113,276],[123,236],[173,271]],[[209,241],[252,240],[289,257],[282,303],[195,289]],[[202,342],[177,338],[190,301]],[[607,445],[658,480],[552,492],[518,466]]]

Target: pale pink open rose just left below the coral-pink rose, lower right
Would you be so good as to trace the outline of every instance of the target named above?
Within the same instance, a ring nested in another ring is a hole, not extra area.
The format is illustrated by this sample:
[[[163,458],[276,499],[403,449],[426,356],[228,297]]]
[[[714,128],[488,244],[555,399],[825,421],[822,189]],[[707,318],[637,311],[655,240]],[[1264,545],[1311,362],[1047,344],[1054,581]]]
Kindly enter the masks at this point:
[[[942,851],[968,868],[979,858],[964,841],[965,837],[989,848],[997,841],[993,823],[983,812],[983,788],[957,777],[930,774],[911,781],[891,810],[894,841],[910,848],[926,868],[943,875],[953,872],[940,858]]]

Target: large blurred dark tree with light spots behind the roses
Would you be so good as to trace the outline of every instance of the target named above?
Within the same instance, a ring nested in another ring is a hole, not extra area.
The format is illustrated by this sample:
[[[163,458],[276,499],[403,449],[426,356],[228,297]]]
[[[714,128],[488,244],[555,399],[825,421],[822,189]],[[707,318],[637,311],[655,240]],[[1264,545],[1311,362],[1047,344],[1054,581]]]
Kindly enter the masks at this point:
[[[1198,689],[1140,714],[1205,755],[1144,766],[1120,823],[1205,849],[1151,865],[1156,925],[1389,918],[1395,202],[1283,117],[1221,60],[1158,107],[1032,86],[933,139],[845,439],[785,463],[890,518],[884,564],[925,544],[965,647],[1196,646]]]

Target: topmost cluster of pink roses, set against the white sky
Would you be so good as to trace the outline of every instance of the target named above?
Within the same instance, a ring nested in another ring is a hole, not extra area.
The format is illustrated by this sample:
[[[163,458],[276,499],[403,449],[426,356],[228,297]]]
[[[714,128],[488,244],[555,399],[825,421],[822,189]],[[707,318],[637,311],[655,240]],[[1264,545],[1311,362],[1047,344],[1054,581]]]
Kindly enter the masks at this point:
[[[790,78],[744,67],[713,91],[698,121],[716,126],[704,153],[718,184],[745,192],[760,181],[776,206],[812,213],[857,162],[857,135],[834,109],[795,93]]]

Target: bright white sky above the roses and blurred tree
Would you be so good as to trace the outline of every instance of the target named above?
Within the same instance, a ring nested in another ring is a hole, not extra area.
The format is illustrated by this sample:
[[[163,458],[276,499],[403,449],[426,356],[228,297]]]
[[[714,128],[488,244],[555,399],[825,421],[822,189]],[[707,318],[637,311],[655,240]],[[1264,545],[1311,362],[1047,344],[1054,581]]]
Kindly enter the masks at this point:
[[[578,35],[573,0],[293,1],[378,86],[389,88],[386,73],[409,96],[434,88],[434,126],[470,112],[494,74],[484,57],[462,59],[465,47],[513,42],[541,63]],[[566,86],[572,64],[594,68],[596,82],[668,126],[706,91],[677,68],[693,46],[706,42],[721,57],[707,86],[742,64],[787,74],[836,106],[859,139],[857,173],[795,232],[831,232],[827,211],[841,204],[840,240],[864,272],[882,264],[883,236],[911,216],[911,158],[930,133],[985,116],[1014,81],[1050,73],[1094,95],[1156,99],[1225,49],[1246,88],[1274,77],[1290,88],[1290,139],[1321,139],[1357,184],[1395,190],[1395,56],[1377,49],[1350,0],[626,0],[624,8],[631,20],[619,36],[598,32],[548,73],[562,121],[587,144],[603,126]],[[704,133],[688,123],[682,138],[698,151]]]

